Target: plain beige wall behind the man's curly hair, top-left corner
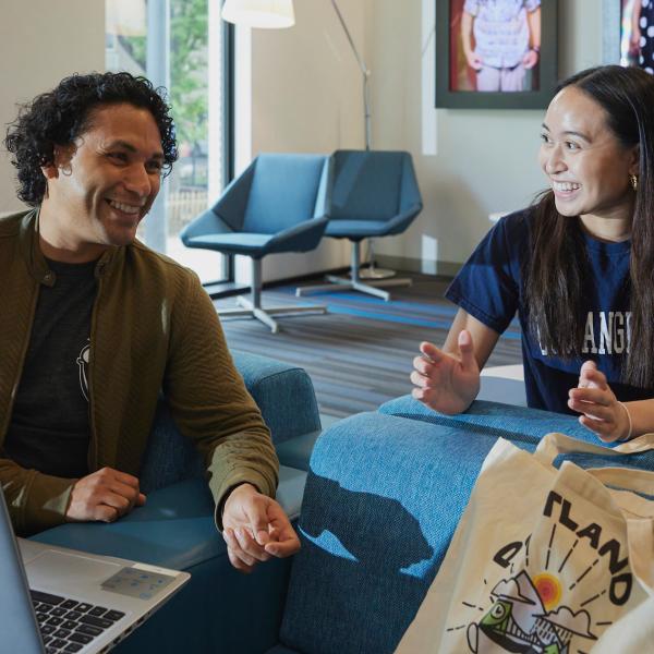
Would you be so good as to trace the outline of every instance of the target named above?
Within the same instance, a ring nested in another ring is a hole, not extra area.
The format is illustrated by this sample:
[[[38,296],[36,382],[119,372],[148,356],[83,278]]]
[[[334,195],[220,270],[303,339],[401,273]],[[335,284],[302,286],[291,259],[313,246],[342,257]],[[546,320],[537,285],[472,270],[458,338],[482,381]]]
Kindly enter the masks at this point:
[[[2,0],[0,4],[0,141],[32,100],[71,73],[105,68],[102,0]],[[0,213],[20,210],[14,168],[0,150]]]

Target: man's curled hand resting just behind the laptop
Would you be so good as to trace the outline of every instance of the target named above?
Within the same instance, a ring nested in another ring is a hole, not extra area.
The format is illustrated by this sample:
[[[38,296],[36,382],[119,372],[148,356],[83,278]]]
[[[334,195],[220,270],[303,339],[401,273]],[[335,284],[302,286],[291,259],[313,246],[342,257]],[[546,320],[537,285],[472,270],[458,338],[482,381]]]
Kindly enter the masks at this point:
[[[102,468],[73,486],[65,518],[69,522],[113,522],[144,504],[145,495],[138,491],[135,476]]]

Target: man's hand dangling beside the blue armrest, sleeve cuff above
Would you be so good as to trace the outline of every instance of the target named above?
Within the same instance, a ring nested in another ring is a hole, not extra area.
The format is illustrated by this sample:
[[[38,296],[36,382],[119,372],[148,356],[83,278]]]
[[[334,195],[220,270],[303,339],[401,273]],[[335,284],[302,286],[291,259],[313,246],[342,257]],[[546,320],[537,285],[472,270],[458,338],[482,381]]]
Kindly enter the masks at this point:
[[[241,484],[230,493],[222,526],[229,560],[241,572],[251,572],[271,556],[284,558],[300,549],[300,538],[283,509],[252,484]]]

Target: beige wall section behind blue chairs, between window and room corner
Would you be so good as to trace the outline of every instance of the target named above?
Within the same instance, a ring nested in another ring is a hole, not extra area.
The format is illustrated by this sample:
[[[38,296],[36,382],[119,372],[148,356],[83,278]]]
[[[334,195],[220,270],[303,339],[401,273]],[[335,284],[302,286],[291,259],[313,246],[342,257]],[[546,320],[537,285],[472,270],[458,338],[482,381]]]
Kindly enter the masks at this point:
[[[366,4],[338,4],[363,55]],[[331,2],[298,0],[294,8],[293,27],[251,32],[252,122],[250,143],[241,140],[249,149],[239,153],[241,162],[261,152],[329,154],[364,146],[363,77]],[[264,279],[347,266],[349,257],[349,242],[324,239],[310,254],[266,257]],[[240,280],[249,278],[244,263],[237,272]]]

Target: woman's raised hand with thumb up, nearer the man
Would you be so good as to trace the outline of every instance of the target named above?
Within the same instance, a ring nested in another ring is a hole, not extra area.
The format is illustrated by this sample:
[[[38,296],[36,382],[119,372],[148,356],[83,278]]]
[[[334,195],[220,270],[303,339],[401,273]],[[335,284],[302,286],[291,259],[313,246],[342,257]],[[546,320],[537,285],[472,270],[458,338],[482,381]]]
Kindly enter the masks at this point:
[[[431,409],[453,415],[470,407],[480,391],[480,366],[474,356],[472,336],[459,332],[461,359],[447,354],[432,343],[421,343],[422,356],[413,360],[412,395]]]

